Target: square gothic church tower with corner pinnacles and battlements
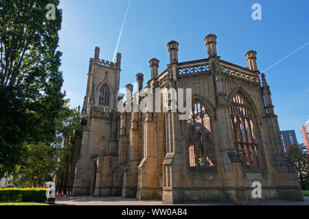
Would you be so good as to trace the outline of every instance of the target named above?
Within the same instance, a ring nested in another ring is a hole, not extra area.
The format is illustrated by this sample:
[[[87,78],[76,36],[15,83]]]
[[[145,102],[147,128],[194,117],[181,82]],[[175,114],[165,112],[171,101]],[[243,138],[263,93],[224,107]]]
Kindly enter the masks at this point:
[[[89,60],[87,90],[82,106],[82,148],[76,165],[74,195],[93,194],[100,155],[117,152],[117,93],[121,53],[117,62],[100,60],[100,47],[95,47]],[[101,156],[102,157],[102,156]],[[108,157],[108,156],[107,156]],[[106,158],[108,159],[108,158]]]

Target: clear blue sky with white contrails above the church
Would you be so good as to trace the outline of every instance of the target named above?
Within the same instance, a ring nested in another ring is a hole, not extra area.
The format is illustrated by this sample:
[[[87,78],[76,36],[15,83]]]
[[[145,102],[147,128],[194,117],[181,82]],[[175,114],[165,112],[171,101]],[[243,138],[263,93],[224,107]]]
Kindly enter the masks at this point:
[[[262,21],[253,21],[253,3],[262,6]],[[89,58],[95,46],[100,58],[112,60],[128,0],[62,0],[60,47],[71,107],[82,106]],[[309,42],[309,1],[131,0],[119,42],[122,53],[120,88],[135,82],[136,73],[150,79],[148,61],[168,64],[167,42],[179,42],[179,62],[207,57],[204,37],[216,34],[222,60],[247,66],[244,53],[258,51],[260,71]],[[309,44],[265,72],[281,130],[300,127],[309,118]]]

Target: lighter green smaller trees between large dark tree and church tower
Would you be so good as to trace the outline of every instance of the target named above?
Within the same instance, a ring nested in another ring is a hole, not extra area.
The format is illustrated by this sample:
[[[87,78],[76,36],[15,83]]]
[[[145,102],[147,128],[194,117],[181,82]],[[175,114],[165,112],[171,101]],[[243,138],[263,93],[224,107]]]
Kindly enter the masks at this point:
[[[72,156],[74,140],[81,133],[80,110],[64,105],[56,118],[56,136],[51,144],[25,144],[22,165],[9,180],[14,187],[41,186],[52,181],[55,174],[63,175]]]

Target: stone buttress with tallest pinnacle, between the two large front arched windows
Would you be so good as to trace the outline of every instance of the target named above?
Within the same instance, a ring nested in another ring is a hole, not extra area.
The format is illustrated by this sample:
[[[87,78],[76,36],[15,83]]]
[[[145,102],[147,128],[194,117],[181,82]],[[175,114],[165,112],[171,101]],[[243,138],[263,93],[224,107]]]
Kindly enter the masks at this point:
[[[238,190],[244,185],[242,177],[242,164],[236,151],[231,127],[231,116],[227,103],[226,79],[220,68],[219,58],[216,51],[216,35],[205,36],[205,44],[209,58],[209,69],[214,77],[216,93],[216,116],[218,118],[219,147],[216,149],[216,168],[222,176],[222,186],[225,190],[227,201],[236,204],[247,203],[247,191]]]

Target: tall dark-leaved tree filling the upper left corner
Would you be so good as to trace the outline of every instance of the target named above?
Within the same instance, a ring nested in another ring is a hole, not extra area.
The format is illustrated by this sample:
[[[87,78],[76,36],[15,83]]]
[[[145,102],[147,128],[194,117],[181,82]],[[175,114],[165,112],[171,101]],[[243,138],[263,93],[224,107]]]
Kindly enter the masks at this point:
[[[56,20],[46,18],[49,3],[56,6]],[[56,51],[58,5],[58,0],[0,0],[0,178],[23,165],[23,144],[54,141],[65,103],[62,53]]]

